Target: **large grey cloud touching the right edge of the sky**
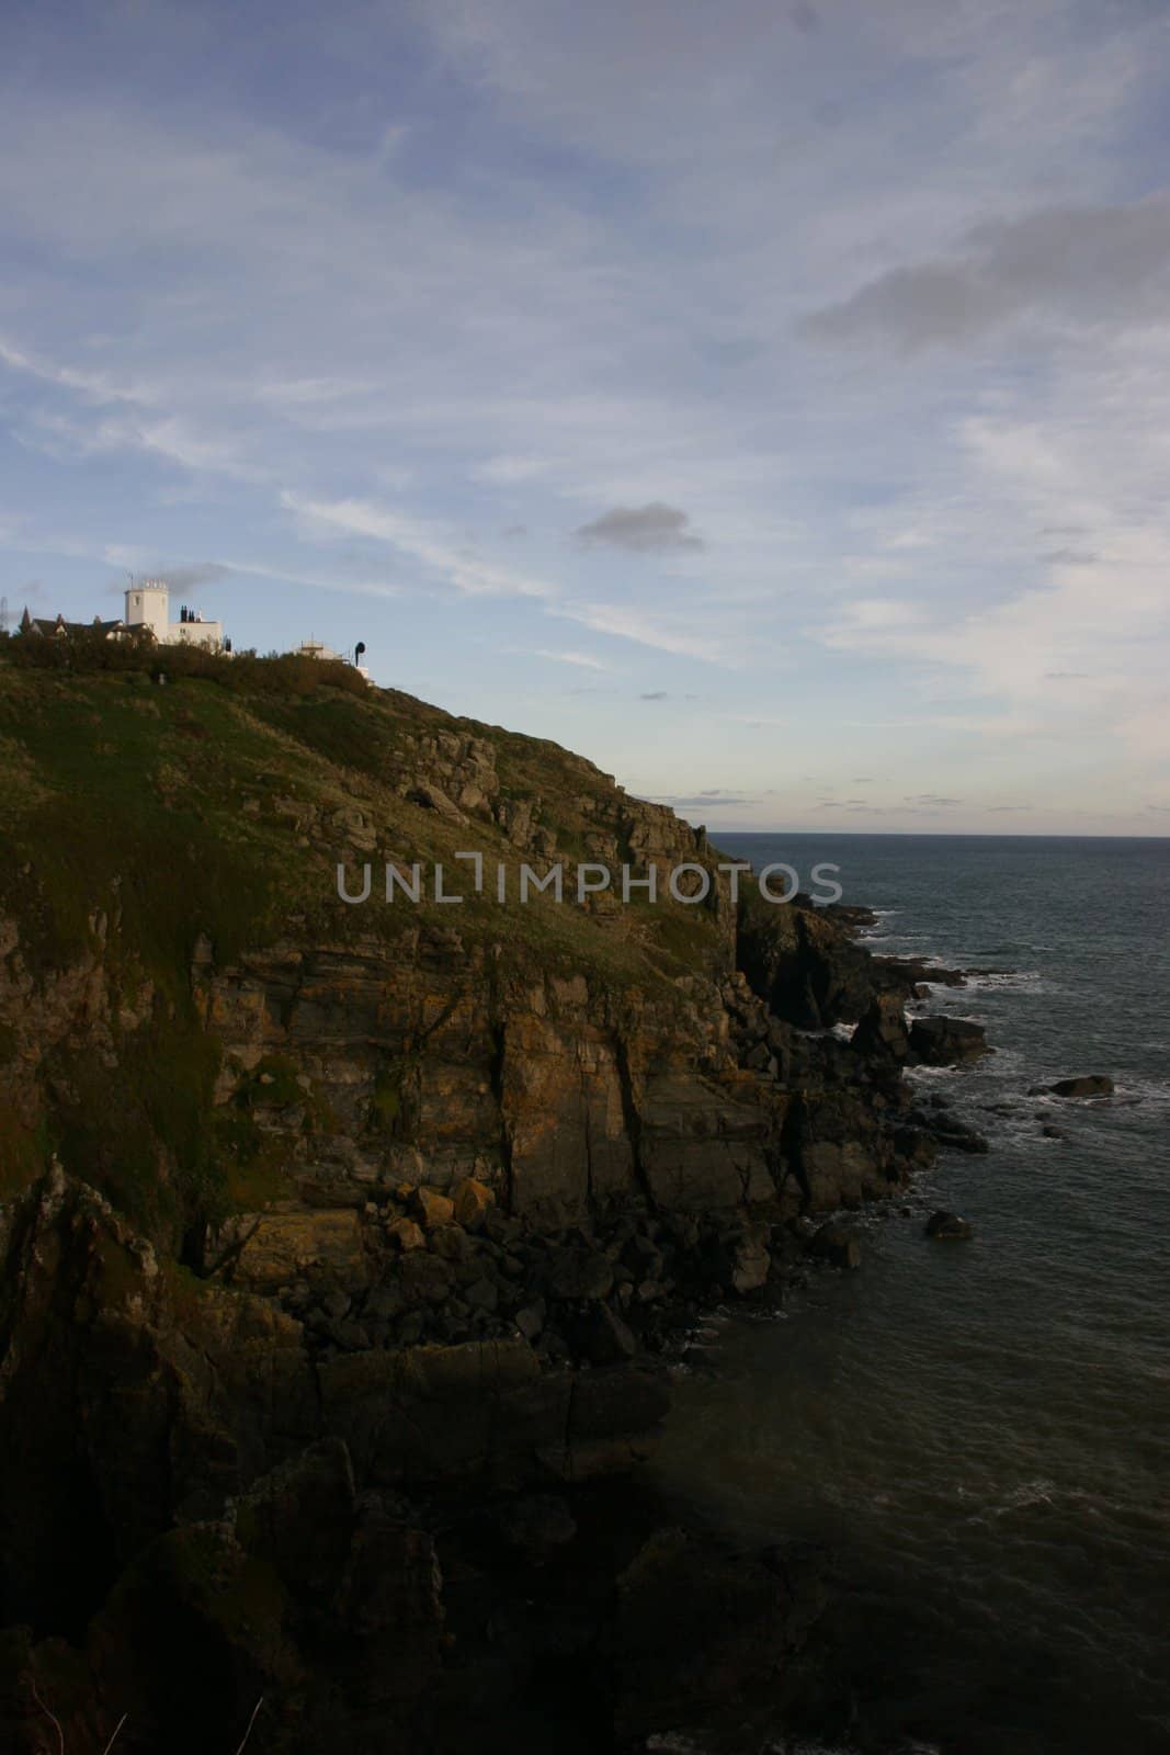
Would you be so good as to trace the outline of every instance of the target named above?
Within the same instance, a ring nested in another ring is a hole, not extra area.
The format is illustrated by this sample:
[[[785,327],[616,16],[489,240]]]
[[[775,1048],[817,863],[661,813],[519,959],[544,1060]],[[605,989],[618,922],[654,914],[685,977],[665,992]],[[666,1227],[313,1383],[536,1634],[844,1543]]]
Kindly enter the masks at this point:
[[[1112,207],[1044,207],[972,226],[954,256],[903,263],[802,323],[816,340],[902,347],[981,340],[1014,318],[1047,325],[1159,319],[1170,195]]]

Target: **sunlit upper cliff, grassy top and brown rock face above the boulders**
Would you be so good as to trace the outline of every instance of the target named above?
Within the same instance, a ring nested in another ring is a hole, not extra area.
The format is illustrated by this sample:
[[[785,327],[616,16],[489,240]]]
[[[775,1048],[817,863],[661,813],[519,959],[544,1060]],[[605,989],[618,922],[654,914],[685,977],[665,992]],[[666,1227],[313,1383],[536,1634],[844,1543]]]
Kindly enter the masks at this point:
[[[377,691],[237,700],[0,667],[0,707],[26,779],[0,890],[11,1192],[56,1151],[193,1260],[249,1213],[467,1176],[546,1225],[626,1197],[831,1200],[795,1102],[816,1092],[828,1116],[826,1083],[849,1107],[851,1081],[784,1027],[856,1020],[874,965],[809,906],[737,911],[670,811]],[[460,851],[484,860],[479,895]],[[382,899],[386,860],[417,862],[417,906]],[[586,860],[614,885],[577,906]],[[358,885],[367,862],[370,900],[346,906],[337,867]],[[458,906],[433,899],[437,862]],[[567,900],[521,904],[521,863],[554,862]],[[656,906],[621,904],[623,862],[656,872]],[[672,900],[681,863],[710,872],[707,902]],[[888,1160],[838,1165],[838,1193]]]

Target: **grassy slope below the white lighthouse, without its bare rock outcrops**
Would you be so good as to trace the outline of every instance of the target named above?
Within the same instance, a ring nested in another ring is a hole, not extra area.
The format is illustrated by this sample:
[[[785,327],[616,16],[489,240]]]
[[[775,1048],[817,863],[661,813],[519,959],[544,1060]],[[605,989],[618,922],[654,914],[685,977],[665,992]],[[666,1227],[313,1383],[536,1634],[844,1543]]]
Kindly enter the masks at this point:
[[[386,856],[444,860],[451,874],[465,870],[453,855],[468,846],[489,870],[523,858],[493,823],[461,827],[402,797],[419,735],[489,741],[502,793],[540,799],[540,821],[567,860],[586,856],[584,837],[598,823],[619,834],[621,795],[556,744],[456,721],[396,691],[307,686],[303,674],[284,683],[261,663],[237,669],[230,686],[223,672],[156,686],[149,669],[74,674],[0,662],[0,916],[16,920],[39,985],[96,956],[126,1006],[140,1007],[144,981],[156,993],[140,1027],[116,1032],[116,1065],[82,1048],[39,1069],[51,1097],[37,1128],[0,1102],[0,1193],[56,1150],[156,1230],[230,1204],[225,1157],[239,1160],[239,1143],[225,1153],[223,1118],[209,1125],[218,1049],[189,988],[200,934],[226,963],[281,935],[389,941],[430,920],[458,927],[467,944],[500,946],[505,967],[561,969],[667,997],[677,992],[670,976],[712,953],[702,907],[635,906],[595,918],[539,899],[526,907],[491,897],[384,906]],[[353,807],[377,834],[374,853],[347,855],[351,870],[360,858],[375,863],[367,907],[335,895],[347,846],[335,816]],[[16,1042],[0,1021],[0,1079],[21,1074]]]

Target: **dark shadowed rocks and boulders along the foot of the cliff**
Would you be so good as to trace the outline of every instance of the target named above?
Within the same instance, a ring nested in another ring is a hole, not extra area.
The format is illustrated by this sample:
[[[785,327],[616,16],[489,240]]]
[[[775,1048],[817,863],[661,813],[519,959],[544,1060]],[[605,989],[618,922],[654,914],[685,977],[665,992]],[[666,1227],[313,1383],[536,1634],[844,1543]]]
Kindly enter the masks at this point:
[[[819,1092],[816,1120],[786,1106],[765,1202],[626,1192],[549,1221],[474,1176],[402,1183],[344,1209],[358,1250],[275,1285],[302,1223],[277,1214],[195,1283],[53,1172],[7,1227],[5,1746],[46,1746],[37,1699],[68,1755],[98,1755],[116,1708],[126,1750],[219,1746],[261,1697],[274,1751],[844,1736],[823,1557],[730,1551],[639,1481],[705,1311],[856,1265],[817,1214],[982,1150],[902,1078],[981,1051],[972,1027],[907,1027],[919,971],[838,944],[840,990],[870,986],[851,1037],[721,990],[753,1083]]]

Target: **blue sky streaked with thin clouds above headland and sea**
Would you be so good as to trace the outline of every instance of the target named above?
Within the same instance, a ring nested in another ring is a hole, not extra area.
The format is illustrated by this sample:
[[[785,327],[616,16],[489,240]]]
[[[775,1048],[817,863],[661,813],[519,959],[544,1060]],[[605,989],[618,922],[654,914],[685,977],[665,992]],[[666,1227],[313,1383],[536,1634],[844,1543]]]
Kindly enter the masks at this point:
[[[2,0],[0,591],[719,828],[1170,834],[1165,0]]]

